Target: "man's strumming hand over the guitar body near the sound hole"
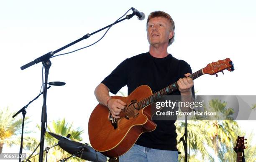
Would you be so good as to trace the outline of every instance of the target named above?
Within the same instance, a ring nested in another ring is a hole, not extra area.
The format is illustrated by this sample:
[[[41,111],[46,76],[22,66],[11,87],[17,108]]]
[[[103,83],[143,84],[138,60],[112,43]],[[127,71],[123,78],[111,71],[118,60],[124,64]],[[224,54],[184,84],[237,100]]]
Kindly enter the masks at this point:
[[[112,98],[108,101],[108,109],[111,112],[112,117],[114,117],[115,119],[120,118],[120,116],[118,116],[120,114],[120,112],[122,111],[122,109],[125,108],[125,102],[123,102],[120,99],[115,99]]]

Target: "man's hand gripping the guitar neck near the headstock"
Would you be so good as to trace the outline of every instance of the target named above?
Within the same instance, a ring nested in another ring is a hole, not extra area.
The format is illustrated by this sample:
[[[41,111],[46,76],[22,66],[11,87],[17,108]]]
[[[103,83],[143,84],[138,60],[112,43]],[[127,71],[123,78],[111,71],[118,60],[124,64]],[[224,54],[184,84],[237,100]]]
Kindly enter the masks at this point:
[[[191,77],[189,77],[190,75],[190,73],[185,74],[185,77],[180,78],[177,82],[179,86],[179,92],[181,94],[190,95],[192,93],[191,88],[194,85],[194,81],[192,80]]]

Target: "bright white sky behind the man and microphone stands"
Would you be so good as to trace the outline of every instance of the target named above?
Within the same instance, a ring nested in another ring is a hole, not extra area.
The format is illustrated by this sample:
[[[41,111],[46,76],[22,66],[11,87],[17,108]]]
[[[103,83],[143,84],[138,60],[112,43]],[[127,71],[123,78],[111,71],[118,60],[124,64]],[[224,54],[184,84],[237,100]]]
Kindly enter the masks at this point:
[[[195,80],[197,95],[256,95],[255,6],[253,0],[1,1],[0,108],[8,106],[16,112],[39,93],[41,63],[26,70],[20,66],[109,25],[131,7],[146,17],[155,10],[172,16],[175,41],[168,52],[186,60],[193,72],[226,57],[234,62],[234,72],[225,70],[218,78],[204,75]],[[58,54],[89,45],[102,34]],[[97,105],[95,87],[125,58],[148,48],[146,19],[133,17],[113,26],[96,45],[51,59],[49,81],[67,84],[48,90],[48,121],[65,117],[74,127],[84,129],[84,142],[89,142],[87,123]],[[41,97],[27,109],[33,127],[41,125],[42,102]],[[252,122],[244,125],[252,130]]]

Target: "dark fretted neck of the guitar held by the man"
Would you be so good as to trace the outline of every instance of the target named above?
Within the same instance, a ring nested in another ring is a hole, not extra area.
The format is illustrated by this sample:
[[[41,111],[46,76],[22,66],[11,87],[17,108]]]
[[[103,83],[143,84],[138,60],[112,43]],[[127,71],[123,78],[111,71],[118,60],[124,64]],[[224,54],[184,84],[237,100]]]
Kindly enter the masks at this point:
[[[198,77],[202,76],[203,74],[204,74],[203,70],[201,69],[201,70],[198,70],[197,72],[194,72],[191,75],[191,78],[192,78],[192,80],[195,80]],[[140,102],[138,102],[138,105],[140,108],[143,108],[147,105],[150,105],[152,102],[154,102],[159,97],[164,96],[164,95],[169,95],[170,93],[175,92],[178,89],[179,89],[178,83],[175,82],[172,85],[169,85],[168,87],[165,87],[164,89],[159,90],[158,92],[154,93],[153,95],[141,100]]]

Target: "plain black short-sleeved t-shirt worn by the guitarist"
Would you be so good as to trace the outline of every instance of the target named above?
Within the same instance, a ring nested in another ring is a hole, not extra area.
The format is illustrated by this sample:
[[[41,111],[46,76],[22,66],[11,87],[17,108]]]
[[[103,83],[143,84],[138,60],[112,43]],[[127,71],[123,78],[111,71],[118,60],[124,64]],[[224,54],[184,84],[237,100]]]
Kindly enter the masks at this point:
[[[188,72],[192,74],[189,64],[183,60],[177,60],[171,54],[164,58],[156,58],[146,52],[121,62],[102,83],[113,94],[125,85],[128,87],[128,95],[141,85],[148,85],[155,93],[177,82]],[[195,94],[194,87],[192,93]],[[171,95],[180,95],[180,92],[177,90]],[[143,133],[136,144],[159,150],[177,151],[175,121],[156,120],[154,122],[157,125],[156,129]]]

